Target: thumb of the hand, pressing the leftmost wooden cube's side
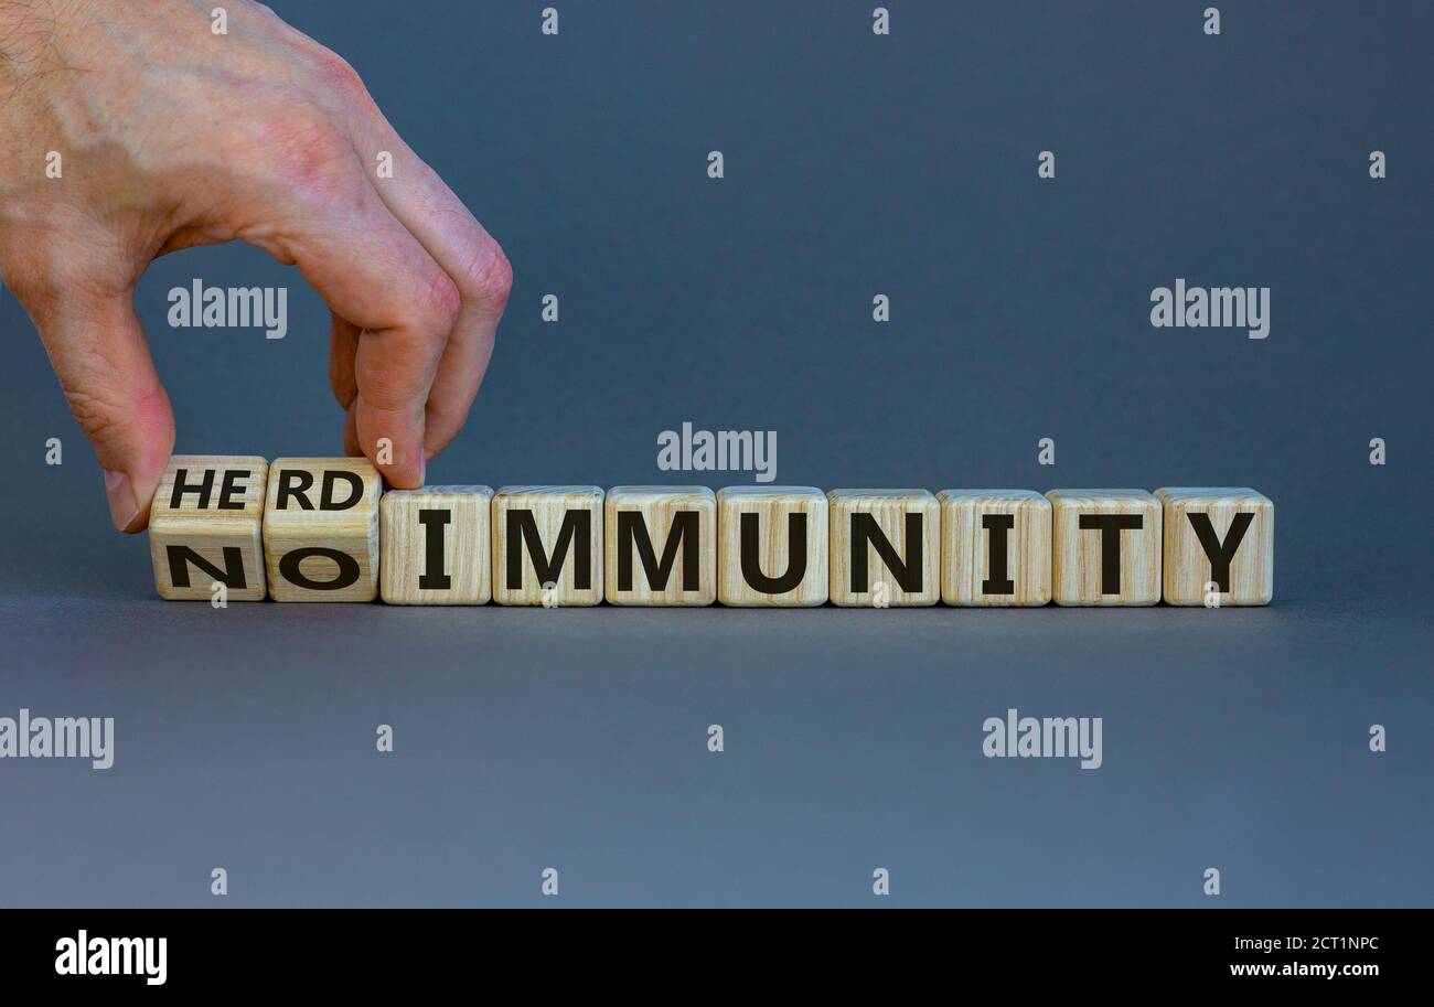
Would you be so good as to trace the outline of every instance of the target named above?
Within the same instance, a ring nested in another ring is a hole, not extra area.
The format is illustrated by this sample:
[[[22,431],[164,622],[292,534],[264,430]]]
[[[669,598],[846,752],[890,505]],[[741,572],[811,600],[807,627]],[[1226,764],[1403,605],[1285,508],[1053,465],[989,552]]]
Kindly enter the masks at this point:
[[[130,291],[66,293],[26,308],[70,412],[95,446],[115,528],[143,531],[174,450],[175,417]]]

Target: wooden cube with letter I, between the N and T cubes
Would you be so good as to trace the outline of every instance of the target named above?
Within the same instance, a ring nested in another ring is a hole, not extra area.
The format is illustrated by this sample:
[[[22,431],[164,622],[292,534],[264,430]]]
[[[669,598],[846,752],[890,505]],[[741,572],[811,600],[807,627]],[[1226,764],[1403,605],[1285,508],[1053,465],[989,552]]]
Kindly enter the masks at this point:
[[[1044,605],[1051,600],[1051,502],[1031,489],[944,489],[941,600]]]

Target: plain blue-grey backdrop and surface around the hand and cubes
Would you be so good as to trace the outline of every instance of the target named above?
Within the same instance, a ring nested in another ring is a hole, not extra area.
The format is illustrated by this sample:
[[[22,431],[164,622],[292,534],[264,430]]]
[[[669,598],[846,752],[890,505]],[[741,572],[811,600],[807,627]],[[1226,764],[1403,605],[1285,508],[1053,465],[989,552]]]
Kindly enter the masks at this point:
[[[1205,3],[896,0],[875,37],[872,3],[561,0],[545,37],[536,1],[271,3],[513,261],[430,481],[693,482],[655,468],[691,420],[776,430],[782,483],[1252,485],[1276,600],[165,604],[6,294],[0,714],[118,737],[109,772],[0,762],[0,904],[554,904],[545,866],[564,905],[1431,902],[1427,4],[1220,3],[1207,37]],[[288,337],[169,330],[195,277],[288,285]],[[1271,287],[1269,339],[1152,328],[1176,277]],[[196,250],[138,303],[178,450],[338,450],[297,273]],[[1007,707],[1103,717],[1104,767],[982,759]]]

